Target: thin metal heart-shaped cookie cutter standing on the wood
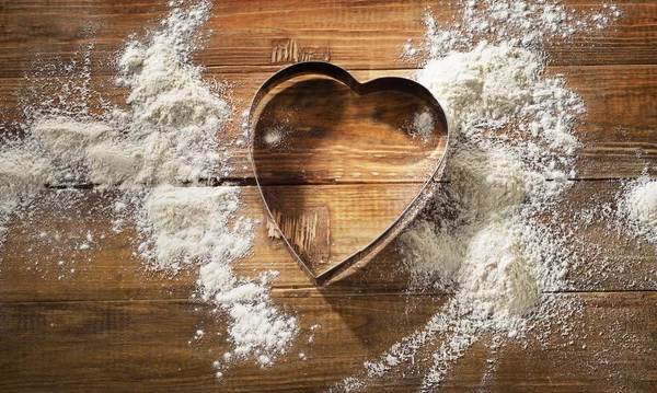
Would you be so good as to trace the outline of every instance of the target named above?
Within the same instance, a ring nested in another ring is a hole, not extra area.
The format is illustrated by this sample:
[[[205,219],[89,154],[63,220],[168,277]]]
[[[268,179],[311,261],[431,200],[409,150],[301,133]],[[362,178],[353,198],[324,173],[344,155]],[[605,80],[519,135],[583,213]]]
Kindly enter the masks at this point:
[[[302,257],[299,255],[295,246],[290,243],[290,241],[283,235],[283,231],[279,228],[277,220],[274,217],[274,213],[269,209],[269,205],[266,200],[265,194],[263,193],[263,187],[258,180],[256,162],[254,159],[254,140],[255,140],[255,125],[257,120],[256,109],[261,104],[261,101],[274,90],[279,84],[297,77],[307,76],[307,74],[315,74],[318,77],[330,77],[333,78],[345,85],[347,85],[351,91],[354,91],[358,95],[366,95],[373,92],[380,91],[396,91],[402,93],[407,93],[416,96],[422,100],[428,107],[433,111],[435,118],[440,123],[443,129],[447,131],[446,140],[445,140],[445,152],[438,160],[436,167],[433,174],[427,178],[422,189],[417,193],[415,198],[411,201],[411,204],[402,211],[402,213],[385,229],[383,230],[376,239],[373,239],[369,244],[364,246],[362,248],[356,251],[342,262],[337,263],[335,266],[331,267],[326,271],[315,275],[303,262]],[[281,234],[281,239],[286,244],[287,248],[290,251],[299,266],[306,271],[310,280],[315,286],[322,286],[331,278],[335,277],[337,274],[344,271],[348,267],[353,266],[357,262],[366,262],[371,259],[374,255],[377,255],[385,245],[390,243],[400,232],[403,230],[408,222],[416,217],[418,211],[426,205],[429,200],[434,192],[436,190],[439,181],[442,177],[445,172],[445,158],[448,153],[448,146],[450,141],[450,131],[448,128],[447,117],[442,107],[438,103],[438,100],[434,96],[434,94],[426,89],[424,85],[417,83],[414,80],[401,77],[383,77],[372,79],[370,81],[360,83],[356,78],[354,78],[348,71],[345,69],[332,65],[330,62],[322,61],[306,61],[298,62],[286,67],[278,72],[274,73],[269,79],[267,79],[255,93],[253,101],[251,102],[251,107],[249,111],[249,119],[247,119],[247,129],[249,129],[249,159],[251,161],[253,167],[253,175],[255,178],[255,183],[257,185],[260,195],[263,199],[263,204],[265,207],[265,211],[267,215],[267,219],[274,226],[275,230]]]

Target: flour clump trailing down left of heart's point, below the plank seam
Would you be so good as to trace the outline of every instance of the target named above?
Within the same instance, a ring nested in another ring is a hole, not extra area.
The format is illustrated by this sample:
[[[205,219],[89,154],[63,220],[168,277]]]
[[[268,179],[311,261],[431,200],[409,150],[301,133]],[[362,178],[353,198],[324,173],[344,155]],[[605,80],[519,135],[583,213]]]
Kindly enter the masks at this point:
[[[171,187],[153,189],[146,198],[139,228],[148,240],[139,247],[158,269],[177,271],[200,264],[200,299],[227,312],[237,360],[257,359],[262,367],[285,354],[298,333],[296,319],[280,313],[269,301],[267,279],[239,280],[231,262],[251,247],[253,223],[239,218],[239,187]],[[263,359],[267,359],[263,361]],[[232,359],[232,356],[230,357]],[[228,361],[217,365],[227,369]]]

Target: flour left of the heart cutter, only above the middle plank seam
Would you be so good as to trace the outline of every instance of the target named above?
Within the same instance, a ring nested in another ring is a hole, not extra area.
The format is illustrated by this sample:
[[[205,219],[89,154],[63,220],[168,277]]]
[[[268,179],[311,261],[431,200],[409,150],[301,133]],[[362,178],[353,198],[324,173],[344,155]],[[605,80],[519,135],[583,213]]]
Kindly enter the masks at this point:
[[[28,112],[22,146],[47,160],[32,166],[47,174],[46,183],[142,188],[199,183],[230,171],[218,134],[231,108],[203,80],[201,68],[189,61],[192,38],[209,18],[210,5],[176,8],[148,44],[126,45],[118,80],[130,89],[129,111],[105,107],[100,119],[87,107],[77,113],[59,107]],[[83,76],[91,78],[89,71]],[[78,91],[69,86],[65,92],[71,90]],[[59,99],[68,101],[66,94]],[[32,187],[43,183],[33,182]]]

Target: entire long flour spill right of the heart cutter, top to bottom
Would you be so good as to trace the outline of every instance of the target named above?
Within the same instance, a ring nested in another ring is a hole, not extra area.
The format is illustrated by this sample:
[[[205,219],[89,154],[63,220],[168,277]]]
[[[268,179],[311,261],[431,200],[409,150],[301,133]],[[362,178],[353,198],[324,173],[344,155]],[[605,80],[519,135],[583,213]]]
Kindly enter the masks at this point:
[[[337,391],[397,370],[417,372],[413,365],[423,357],[431,366],[422,369],[420,390],[433,390],[484,335],[500,345],[530,332],[539,339],[568,332],[578,309],[549,293],[564,287],[578,258],[544,213],[576,176],[580,142],[572,128],[586,108],[565,78],[545,77],[539,49],[555,37],[604,28],[620,12],[613,5],[575,12],[551,1],[457,7],[448,25],[427,16],[423,46],[405,47],[404,56],[429,57],[416,79],[443,106],[452,141],[449,183],[400,238],[412,287],[454,294],[424,328],[366,362]]]

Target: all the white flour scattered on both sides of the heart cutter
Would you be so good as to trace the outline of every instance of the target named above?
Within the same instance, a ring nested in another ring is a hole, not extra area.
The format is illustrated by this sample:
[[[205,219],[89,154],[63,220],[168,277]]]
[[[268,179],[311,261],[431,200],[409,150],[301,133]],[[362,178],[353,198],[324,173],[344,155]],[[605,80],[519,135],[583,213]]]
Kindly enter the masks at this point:
[[[439,23],[429,13],[423,43],[404,47],[404,58],[427,59],[414,77],[446,109],[453,140],[449,183],[400,245],[413,291],[453,296],[425,326],[332,391],[357,391],[405,368],[415,371],[423,356],[429,366],[422,369],[420,390],[431,391],[483,337],[496,348],[551,332],[568,336],[578,309],[550,293],[564,288],[580,261],[572,239],[555,233],[555,222],[544,216],[577,174],[581,142],[573,129],[586,107],[566,78],[548,76],[543,48],[608,28],[621,12],[613,4],[574,10],[550,0],[460,0],[452,7],[453,21]],[[37,96],[43,104],[25,106],[24,138],[10,136],[0,146],[0,244],[10,235],[11,217],[28,220],[31,204],[51,192],[46,186],[112,190],[118,195],[113,231],[135,223],[141,239],[136,255],[145,266],[168,275],[198,269],[193,297],[228,321],[219,333],[232,349],[214,363],[222,378],[235,361],[273,366],[300,328],[270,299],[276,271],[254,278],[233,271],[257,224],[240,216],[239,187],[207,186],[231,172],[232,140],[223,131],[233,116],[216,93],[226,88],[204,80],[191,61],[210,11],[209,1],[172,2],[159,28],[125,43],[115,83],[126,89],[126,105],[103,104],[101,115],[91,115],[85,100],[74,100],[95,94],[89,45],[72,62],[80,72],[60,96]],[[417,114],[412,127],[422,137],[430,120]],[[280,138],[272,134],[268,142]],[[656,183],[643,177],[626,184],[618,216],[657,244]],[[92,236],[80,247],[91,244]]]

